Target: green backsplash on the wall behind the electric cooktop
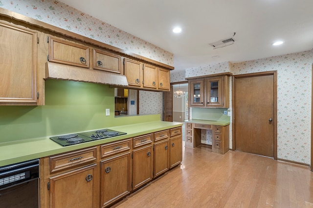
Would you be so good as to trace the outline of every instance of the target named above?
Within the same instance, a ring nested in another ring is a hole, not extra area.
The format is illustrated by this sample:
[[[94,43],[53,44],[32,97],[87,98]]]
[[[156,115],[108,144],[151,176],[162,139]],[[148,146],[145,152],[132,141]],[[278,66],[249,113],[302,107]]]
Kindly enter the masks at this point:
[[[114,117],[109,85],[48,79],[45,106],[0,106],[0,143],[155,120],[159,114]]]

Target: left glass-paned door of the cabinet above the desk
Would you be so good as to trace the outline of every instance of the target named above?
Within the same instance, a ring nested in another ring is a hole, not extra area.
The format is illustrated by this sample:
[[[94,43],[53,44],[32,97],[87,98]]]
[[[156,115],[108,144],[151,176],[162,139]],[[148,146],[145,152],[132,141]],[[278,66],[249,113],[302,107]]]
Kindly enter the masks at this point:
[[[190,107],[204,107],[203,79],[189,81],[188,86]]]

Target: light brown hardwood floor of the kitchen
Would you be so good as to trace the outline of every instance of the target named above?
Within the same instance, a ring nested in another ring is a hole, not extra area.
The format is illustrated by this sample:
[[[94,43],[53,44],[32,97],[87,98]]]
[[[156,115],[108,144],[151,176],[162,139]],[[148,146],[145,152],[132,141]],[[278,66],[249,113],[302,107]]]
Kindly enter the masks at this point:
[[[113,207],[313,208],[313,172],[245,152],[183,148],[180,167]]]

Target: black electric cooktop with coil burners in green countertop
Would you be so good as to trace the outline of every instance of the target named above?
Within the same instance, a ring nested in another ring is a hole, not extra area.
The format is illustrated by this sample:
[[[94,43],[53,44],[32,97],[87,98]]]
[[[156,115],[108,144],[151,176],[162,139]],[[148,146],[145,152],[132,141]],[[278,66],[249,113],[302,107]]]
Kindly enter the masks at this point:
[[[111,129],[100,129],[90,132],[80,132],[80,133],[72,133],[72,134],[65,134],[60,136],[52,136],[50,139],[55,141],[56,143],[62,146],[80,144],[84,142],[99,140],[99,139],[106,139],[111,138],[113,136],[119,136],[126,134],[125,132],[117,132]]]

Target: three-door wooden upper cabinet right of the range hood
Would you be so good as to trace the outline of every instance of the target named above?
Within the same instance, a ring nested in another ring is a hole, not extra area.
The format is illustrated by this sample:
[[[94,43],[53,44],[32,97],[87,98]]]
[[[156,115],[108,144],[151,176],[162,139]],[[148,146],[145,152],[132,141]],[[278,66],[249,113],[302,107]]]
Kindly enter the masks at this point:
[[[124,75],[131,88],[170,90],[170,70],[124,58]]]

